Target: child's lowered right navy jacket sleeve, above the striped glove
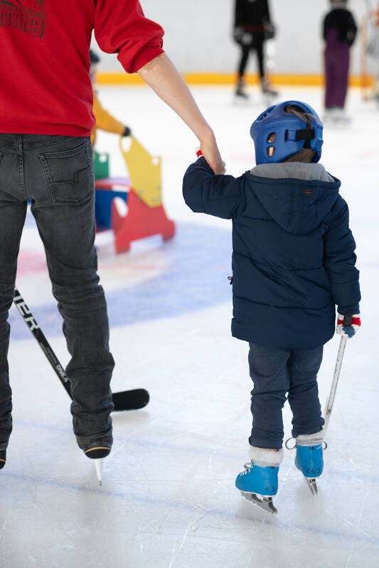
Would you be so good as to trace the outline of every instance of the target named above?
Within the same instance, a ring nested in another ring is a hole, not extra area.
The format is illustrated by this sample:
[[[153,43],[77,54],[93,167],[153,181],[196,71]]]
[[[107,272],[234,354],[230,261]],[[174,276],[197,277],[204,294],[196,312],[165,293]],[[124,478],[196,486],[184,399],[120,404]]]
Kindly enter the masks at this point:
[[[348,226],[348,206],[338,197],[324,235],[324,267],[329,274],[333,301],[341,315],[359,313],[361,293],[355,249],[356,242]]]

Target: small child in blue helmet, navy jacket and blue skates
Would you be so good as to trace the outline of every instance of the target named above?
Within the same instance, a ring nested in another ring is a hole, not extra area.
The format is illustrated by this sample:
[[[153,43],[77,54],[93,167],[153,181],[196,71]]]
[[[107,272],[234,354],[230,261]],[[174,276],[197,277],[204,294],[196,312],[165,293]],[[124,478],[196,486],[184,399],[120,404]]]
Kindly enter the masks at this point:
[[[336,305],[339,333],[351,337],[361,323],[356,245],[338,193],[341,182],[318,163],[322,131],[309,105],[276,104],[250,130],[255,168],[240,178],[214,175],[201,157],[183,180],[184,199],[194,212],[233,219],[232,334],[250,344],[254,383],[251,463],[236,486],[271,512],[286,395],[295,463],[316,492],[323,469],[316,382],[323,345],[334,334]]]

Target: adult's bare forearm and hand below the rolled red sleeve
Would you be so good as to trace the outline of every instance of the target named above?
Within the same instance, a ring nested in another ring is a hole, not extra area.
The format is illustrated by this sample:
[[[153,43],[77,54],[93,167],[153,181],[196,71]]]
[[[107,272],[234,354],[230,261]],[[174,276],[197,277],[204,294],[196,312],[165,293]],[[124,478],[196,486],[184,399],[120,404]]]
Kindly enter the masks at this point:
[[[214,173],[224,173],[225,164],[221,160],[215,135],[198,109],[186,82],[166,53],[149,61],[137,72],[196,134],[203,156]]]

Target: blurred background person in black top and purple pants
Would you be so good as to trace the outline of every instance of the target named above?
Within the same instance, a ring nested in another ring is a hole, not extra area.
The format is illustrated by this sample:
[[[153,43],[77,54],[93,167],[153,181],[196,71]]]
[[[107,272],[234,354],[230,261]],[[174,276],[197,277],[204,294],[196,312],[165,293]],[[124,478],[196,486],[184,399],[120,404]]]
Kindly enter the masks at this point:
[[[348,90],[350,48],[356,39],[357,26],[347,0],[330,0],[331,11],[322,26],[325,40],[325,116],[324,121],[347,124],[345,113]]]

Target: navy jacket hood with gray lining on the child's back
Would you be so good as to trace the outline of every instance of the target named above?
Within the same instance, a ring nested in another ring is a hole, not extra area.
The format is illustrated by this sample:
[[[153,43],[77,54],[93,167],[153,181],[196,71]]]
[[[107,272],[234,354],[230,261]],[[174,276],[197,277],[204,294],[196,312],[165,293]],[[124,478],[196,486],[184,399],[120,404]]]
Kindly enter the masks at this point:
[[[246,176],[252,192],[284,231],[307,234],[333,207],[341,182],[322,164],[261,164]]]

